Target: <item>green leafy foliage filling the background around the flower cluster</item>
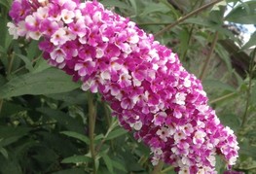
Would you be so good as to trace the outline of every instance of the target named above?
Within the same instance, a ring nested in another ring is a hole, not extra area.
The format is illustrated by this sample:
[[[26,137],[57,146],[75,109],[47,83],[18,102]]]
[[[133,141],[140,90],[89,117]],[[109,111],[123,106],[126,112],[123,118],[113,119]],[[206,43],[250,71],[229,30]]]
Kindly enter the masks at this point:
[[[184,66],[202,80],[209,104],[238,135],[235,170],[256,173],[256,33],[242,42],[242,26],[256,24],[255,0],[221,1],[159,33],[194,12],[203,0],[102,0],[105,7],[136,21],[178,52]],[[8,33],[12,0],[0,1],[0,173],[150,173],[147,147],[122,129],[98,94],[91,95],[62,71],[51,68],[37,42]],[[227,4],[230,3],[230,4]],[[224,16],[225,9],[232,11]],[[227,23],[229,21],[229,23]],[[89,98],[92,97],[92,100]],[[90,102],[96,111],[92,161]],[[225,170],[218,157],[216,168]],[[162,172],[174,173],[165,165]]]

